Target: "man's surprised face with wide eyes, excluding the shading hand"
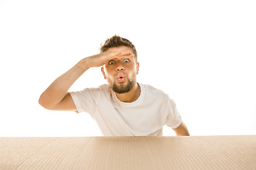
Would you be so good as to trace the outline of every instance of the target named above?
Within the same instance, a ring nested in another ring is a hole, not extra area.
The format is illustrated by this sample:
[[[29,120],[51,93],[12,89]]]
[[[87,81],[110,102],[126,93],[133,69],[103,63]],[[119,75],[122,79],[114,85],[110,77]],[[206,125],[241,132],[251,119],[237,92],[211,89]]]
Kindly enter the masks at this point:
[[[132,52],[129,47],[111,47],[106,52],[127,51]],[[139,74],[139,62],[134,57],[123,56],[114,58],[105,64],[102,68],[104,75],[110,87],[117,94],[124,94],[132,90],[137,82],[137,74]]]

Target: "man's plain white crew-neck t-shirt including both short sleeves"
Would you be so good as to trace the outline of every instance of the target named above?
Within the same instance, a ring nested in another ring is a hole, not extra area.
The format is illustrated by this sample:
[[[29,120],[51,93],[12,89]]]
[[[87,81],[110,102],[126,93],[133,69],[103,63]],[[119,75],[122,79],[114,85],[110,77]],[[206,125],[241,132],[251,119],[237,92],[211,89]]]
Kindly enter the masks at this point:
[[[178,128],[181,115],[163,91],[139,84],[137,101],[119,101],[109,85],[69,92],[78,112],[90,113],[105,136],[162,136],[163,126]]]

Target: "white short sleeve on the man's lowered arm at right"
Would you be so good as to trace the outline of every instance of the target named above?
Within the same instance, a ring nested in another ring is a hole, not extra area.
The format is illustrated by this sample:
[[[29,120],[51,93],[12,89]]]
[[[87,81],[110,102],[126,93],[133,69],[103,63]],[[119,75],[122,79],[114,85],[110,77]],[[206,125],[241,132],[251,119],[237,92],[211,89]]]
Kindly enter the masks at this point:
[[[173,129],[181,125],[181,115],[178,113],[176,103],[171,98],[169,98],[169,111],[166,118],[166,125]]]

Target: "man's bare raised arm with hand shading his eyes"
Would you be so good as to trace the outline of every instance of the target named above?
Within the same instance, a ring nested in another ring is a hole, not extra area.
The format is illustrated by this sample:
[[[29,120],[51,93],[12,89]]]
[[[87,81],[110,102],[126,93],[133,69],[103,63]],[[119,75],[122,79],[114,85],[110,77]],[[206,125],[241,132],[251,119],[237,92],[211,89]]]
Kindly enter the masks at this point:
[[[78,64],[65,72],[60,77],[55,79],[46,91],[41,94],[38,103],[48,110],[54,111],[77,111],[75,103],[68,94],[68,89],[75,81],[89,69],[90,67],[100,67],[106,64],[113,58],[129,55],[134,57],[130,51],[118,52],[103,52],[99,55],[93,55],[80,60]]]

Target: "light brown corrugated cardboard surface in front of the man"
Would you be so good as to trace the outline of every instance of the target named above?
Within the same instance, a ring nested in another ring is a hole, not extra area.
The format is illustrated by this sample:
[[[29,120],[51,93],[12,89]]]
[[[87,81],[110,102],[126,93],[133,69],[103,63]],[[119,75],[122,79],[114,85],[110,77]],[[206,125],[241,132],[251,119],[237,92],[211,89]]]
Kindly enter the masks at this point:
[[[0,169],[256,169],[256,135],[0,137]]]

